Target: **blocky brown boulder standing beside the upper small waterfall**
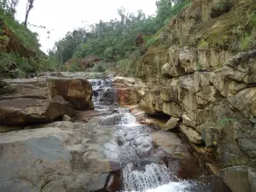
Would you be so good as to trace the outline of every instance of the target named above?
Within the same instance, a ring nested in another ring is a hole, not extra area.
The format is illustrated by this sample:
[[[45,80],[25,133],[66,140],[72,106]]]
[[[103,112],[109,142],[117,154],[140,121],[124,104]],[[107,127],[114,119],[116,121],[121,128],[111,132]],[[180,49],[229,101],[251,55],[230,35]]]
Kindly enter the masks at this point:
[[[76,109],[94,109],[91,97],[93,90],[89,81],[85,79],[47,79],[49,96],[63,96]]]

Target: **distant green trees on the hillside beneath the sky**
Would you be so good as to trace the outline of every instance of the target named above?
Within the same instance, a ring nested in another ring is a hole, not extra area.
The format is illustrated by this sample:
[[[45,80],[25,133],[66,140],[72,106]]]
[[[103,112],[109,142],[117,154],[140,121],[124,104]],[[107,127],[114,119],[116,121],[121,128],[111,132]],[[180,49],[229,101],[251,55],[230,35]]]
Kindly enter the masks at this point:
[[[158,0],[156,16],[146,17],[142,10],[127,13],[118,9],[119,20],[100,20],[91,26],[84,26],[55,43],[56,60],[65,63],[72,57],[84,58],[94,54],[103,61],[121,61],[128,58],[137,49],[137,34],[154,34],[166,24],[173,15],[177,15],[189,0]],[[148,44],[158,44],[160,36],[154,35],[145,40]],[[144,47],[145,48],[145,47]]]

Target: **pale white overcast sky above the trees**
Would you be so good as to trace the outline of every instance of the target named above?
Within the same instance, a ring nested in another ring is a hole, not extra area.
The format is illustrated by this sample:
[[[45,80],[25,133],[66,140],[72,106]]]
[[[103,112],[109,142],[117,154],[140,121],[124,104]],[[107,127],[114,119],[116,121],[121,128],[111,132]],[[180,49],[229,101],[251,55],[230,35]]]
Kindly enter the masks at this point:
[[[27,0],[20,0],[15,15],[16,20],[24,21]],[[44,52],[52,49],[55,41],[63,38],[68,31],[83,26],[82,21],[93,24],[99,20],[108,21],[117,17],[117,9],[124,7],[134,13],[143,9],[146,15],[154,15],[155,0],[35,0],[28,22],[46,29],[29,26],[38,32]],[[47,31],[50,32],[48,39]]]

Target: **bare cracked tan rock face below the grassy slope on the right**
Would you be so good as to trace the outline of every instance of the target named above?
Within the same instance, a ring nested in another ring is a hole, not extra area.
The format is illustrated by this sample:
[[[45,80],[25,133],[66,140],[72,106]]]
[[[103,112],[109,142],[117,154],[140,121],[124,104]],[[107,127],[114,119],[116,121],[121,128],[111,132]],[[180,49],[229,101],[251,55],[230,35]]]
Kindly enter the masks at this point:
[[[173,58],[174,62],[170,60],[162,67],[163,79],[159,84],[148,84],[150,90],[139,107],[148,114],[170,115],[164,129],[176,127],[181,119],[180,131],[189,141],[217,147],[218,160],[224,166],[256,160],[256,50],[229,56],[219,66],[207,65],[212,60],[202,59],[199,50],[195,53],[187,47],[178,51],[177,61]],[[207,55],[217,54],[209,51]],[[205,61],[202,70],[192,65],[200,60]],[[179,63],[183,73],[173,73],[175,63]]]

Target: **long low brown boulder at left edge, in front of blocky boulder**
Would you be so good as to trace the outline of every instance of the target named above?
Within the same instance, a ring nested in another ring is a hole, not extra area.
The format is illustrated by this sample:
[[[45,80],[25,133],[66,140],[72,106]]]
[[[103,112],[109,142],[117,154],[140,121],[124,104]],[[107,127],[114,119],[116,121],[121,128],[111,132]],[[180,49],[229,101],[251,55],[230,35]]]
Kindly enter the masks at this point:
[[[62,96],[53,99],[15,98],[0,101],[0,124],[26,125],[50,122],[64,114],[73,116],[72,104]]]

